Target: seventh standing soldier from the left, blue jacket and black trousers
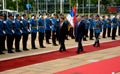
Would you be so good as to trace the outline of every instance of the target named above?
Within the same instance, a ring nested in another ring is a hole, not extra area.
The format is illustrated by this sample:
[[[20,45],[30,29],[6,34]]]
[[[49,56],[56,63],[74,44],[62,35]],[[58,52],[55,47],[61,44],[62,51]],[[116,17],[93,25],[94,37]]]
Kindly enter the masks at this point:
[[[46,18],[45,18],[45,37],[46,37],[46,43],[47,44],[51,44],[49,39],[51,36],[51,28],[50,26],[52,25],[49,14],[46,14]]]

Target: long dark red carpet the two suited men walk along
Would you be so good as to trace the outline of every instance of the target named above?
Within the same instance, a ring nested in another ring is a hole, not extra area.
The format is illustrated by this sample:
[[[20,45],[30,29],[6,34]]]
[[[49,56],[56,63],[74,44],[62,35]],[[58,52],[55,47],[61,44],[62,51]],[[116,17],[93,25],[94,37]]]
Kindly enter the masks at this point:
[[[107,48],[117,47],[117,46],[120,46],[120,40],[101,43],[100,48],[93,47],[92,45],[88,45],[88,46],[84,46],[85,52],[83,53],[88,53],[92,51],[97,51],[97,50],[107,49]],[[45,54],[39,54],[39,55],[34,55],[34,56],[27,56],[27,57],[15,58],[11,60],[0,61],[0,72],[9,70],[9,69],[31,65],[31,64],[36,64],[36,63],[55,60],[59,58],[74,56],[74,55],[77,55],[76,50],[77,50],[76,48],[71,48],[67,50],[67,52],[63,52],[63,53],[54,51],[54,52],[49,52]]]

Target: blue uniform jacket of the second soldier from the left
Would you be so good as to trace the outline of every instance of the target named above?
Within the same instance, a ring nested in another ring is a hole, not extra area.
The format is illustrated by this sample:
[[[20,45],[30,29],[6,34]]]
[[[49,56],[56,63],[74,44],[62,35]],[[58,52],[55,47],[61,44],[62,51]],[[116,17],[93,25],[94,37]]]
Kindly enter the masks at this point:
[[[13,28],[14,28],[13,20],[8,19],[6,21],[6,34],[13,35],[14,34],[14,32],[12,31]]]

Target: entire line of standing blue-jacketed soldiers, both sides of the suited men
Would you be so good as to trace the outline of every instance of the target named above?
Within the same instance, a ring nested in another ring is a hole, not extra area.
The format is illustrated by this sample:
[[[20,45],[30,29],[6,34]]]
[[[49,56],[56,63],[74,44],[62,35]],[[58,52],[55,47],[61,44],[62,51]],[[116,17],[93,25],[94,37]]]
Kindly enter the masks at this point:
[[[30,19],[27,19],[27,15],[23,14],[22,18],[19,14],[16,15],[16,18],[12,14],[8,15],[8,19],[4,20],[4,16],[0,14],[0,54],[4,54],[3,50],[5,49],[5,40],[7,43],[8,53],[13,52],[13,41],[15,41],[15,51],[21,52],[20,50],[20,40],[22,38],[23,50],[28,51],[27,41],[28,36],[31,34],[31,47],[32,49],[37,49],[35,46],[35,40],[37,37],[37,32],[39,33],[39,45],[40,48],[45,48],[43,44],[44,36],[46,38],[46,43],[51,44],[49,39],[52,37],[52,44],[57,46],[56,41],[59,40],[59,26],[60,26],[60,17],[63,17],[63,14],[59,16],[54,14],[53,17],[50,17],[49,14],[46,14],[44,18],[43,14],[37,18],[36,15],[32,15]],[[88,31],[90,30],[90,40],[93,40],[94,37],[94,15],[82,16],[82,20],[85,23],[85,36],[83,36],[83,40],[87,40]],[[120,35],[120,19],[115,17],[111,18],[110,15],[106,18],[106,16],[102,16],[102,19],[99,18],[100,21],[100,32],[103,33],[103,38],[106,38],[106,32],[108,37],[112,36],[112,39],[115,39],[117,27],[119,27],[119,35]],[[73,27],[69,29],[69,22],[67,19],[64,20],[67,30],[70,30],[70,36],[72,38],[76,37],[76,32],[73,33]],[[77,22],[76,22],[77,23]],[[76,24],[77,26],[77,24]],[[112,29],[113,28],[113,29]],[[76,30],[76,29],[75,29]],[[111,31],[112,30],[112,31]],[[52,33],[51,33],[52,32]],[[112,32],[112,35],[111,35]],[[52,35],[51,35],[52,34]],[[67,39],[66,33],[66,39]]]

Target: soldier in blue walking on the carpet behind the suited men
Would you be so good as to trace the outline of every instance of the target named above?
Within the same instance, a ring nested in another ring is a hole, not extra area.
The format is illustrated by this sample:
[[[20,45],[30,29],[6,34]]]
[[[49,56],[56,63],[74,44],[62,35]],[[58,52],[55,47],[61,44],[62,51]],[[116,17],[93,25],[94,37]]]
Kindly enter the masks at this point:
[[[94,21],[94,33],[95,33],[95,43],[93,44],[93,46],[97,46],[97,47],[100,47],[100,42],[99,42],[99,36],[100,36],[100,32],[101,32],[101,23],[100,23],[100,20],[99,20],[99,15],[96,15],[95,16],[95,21]]]

